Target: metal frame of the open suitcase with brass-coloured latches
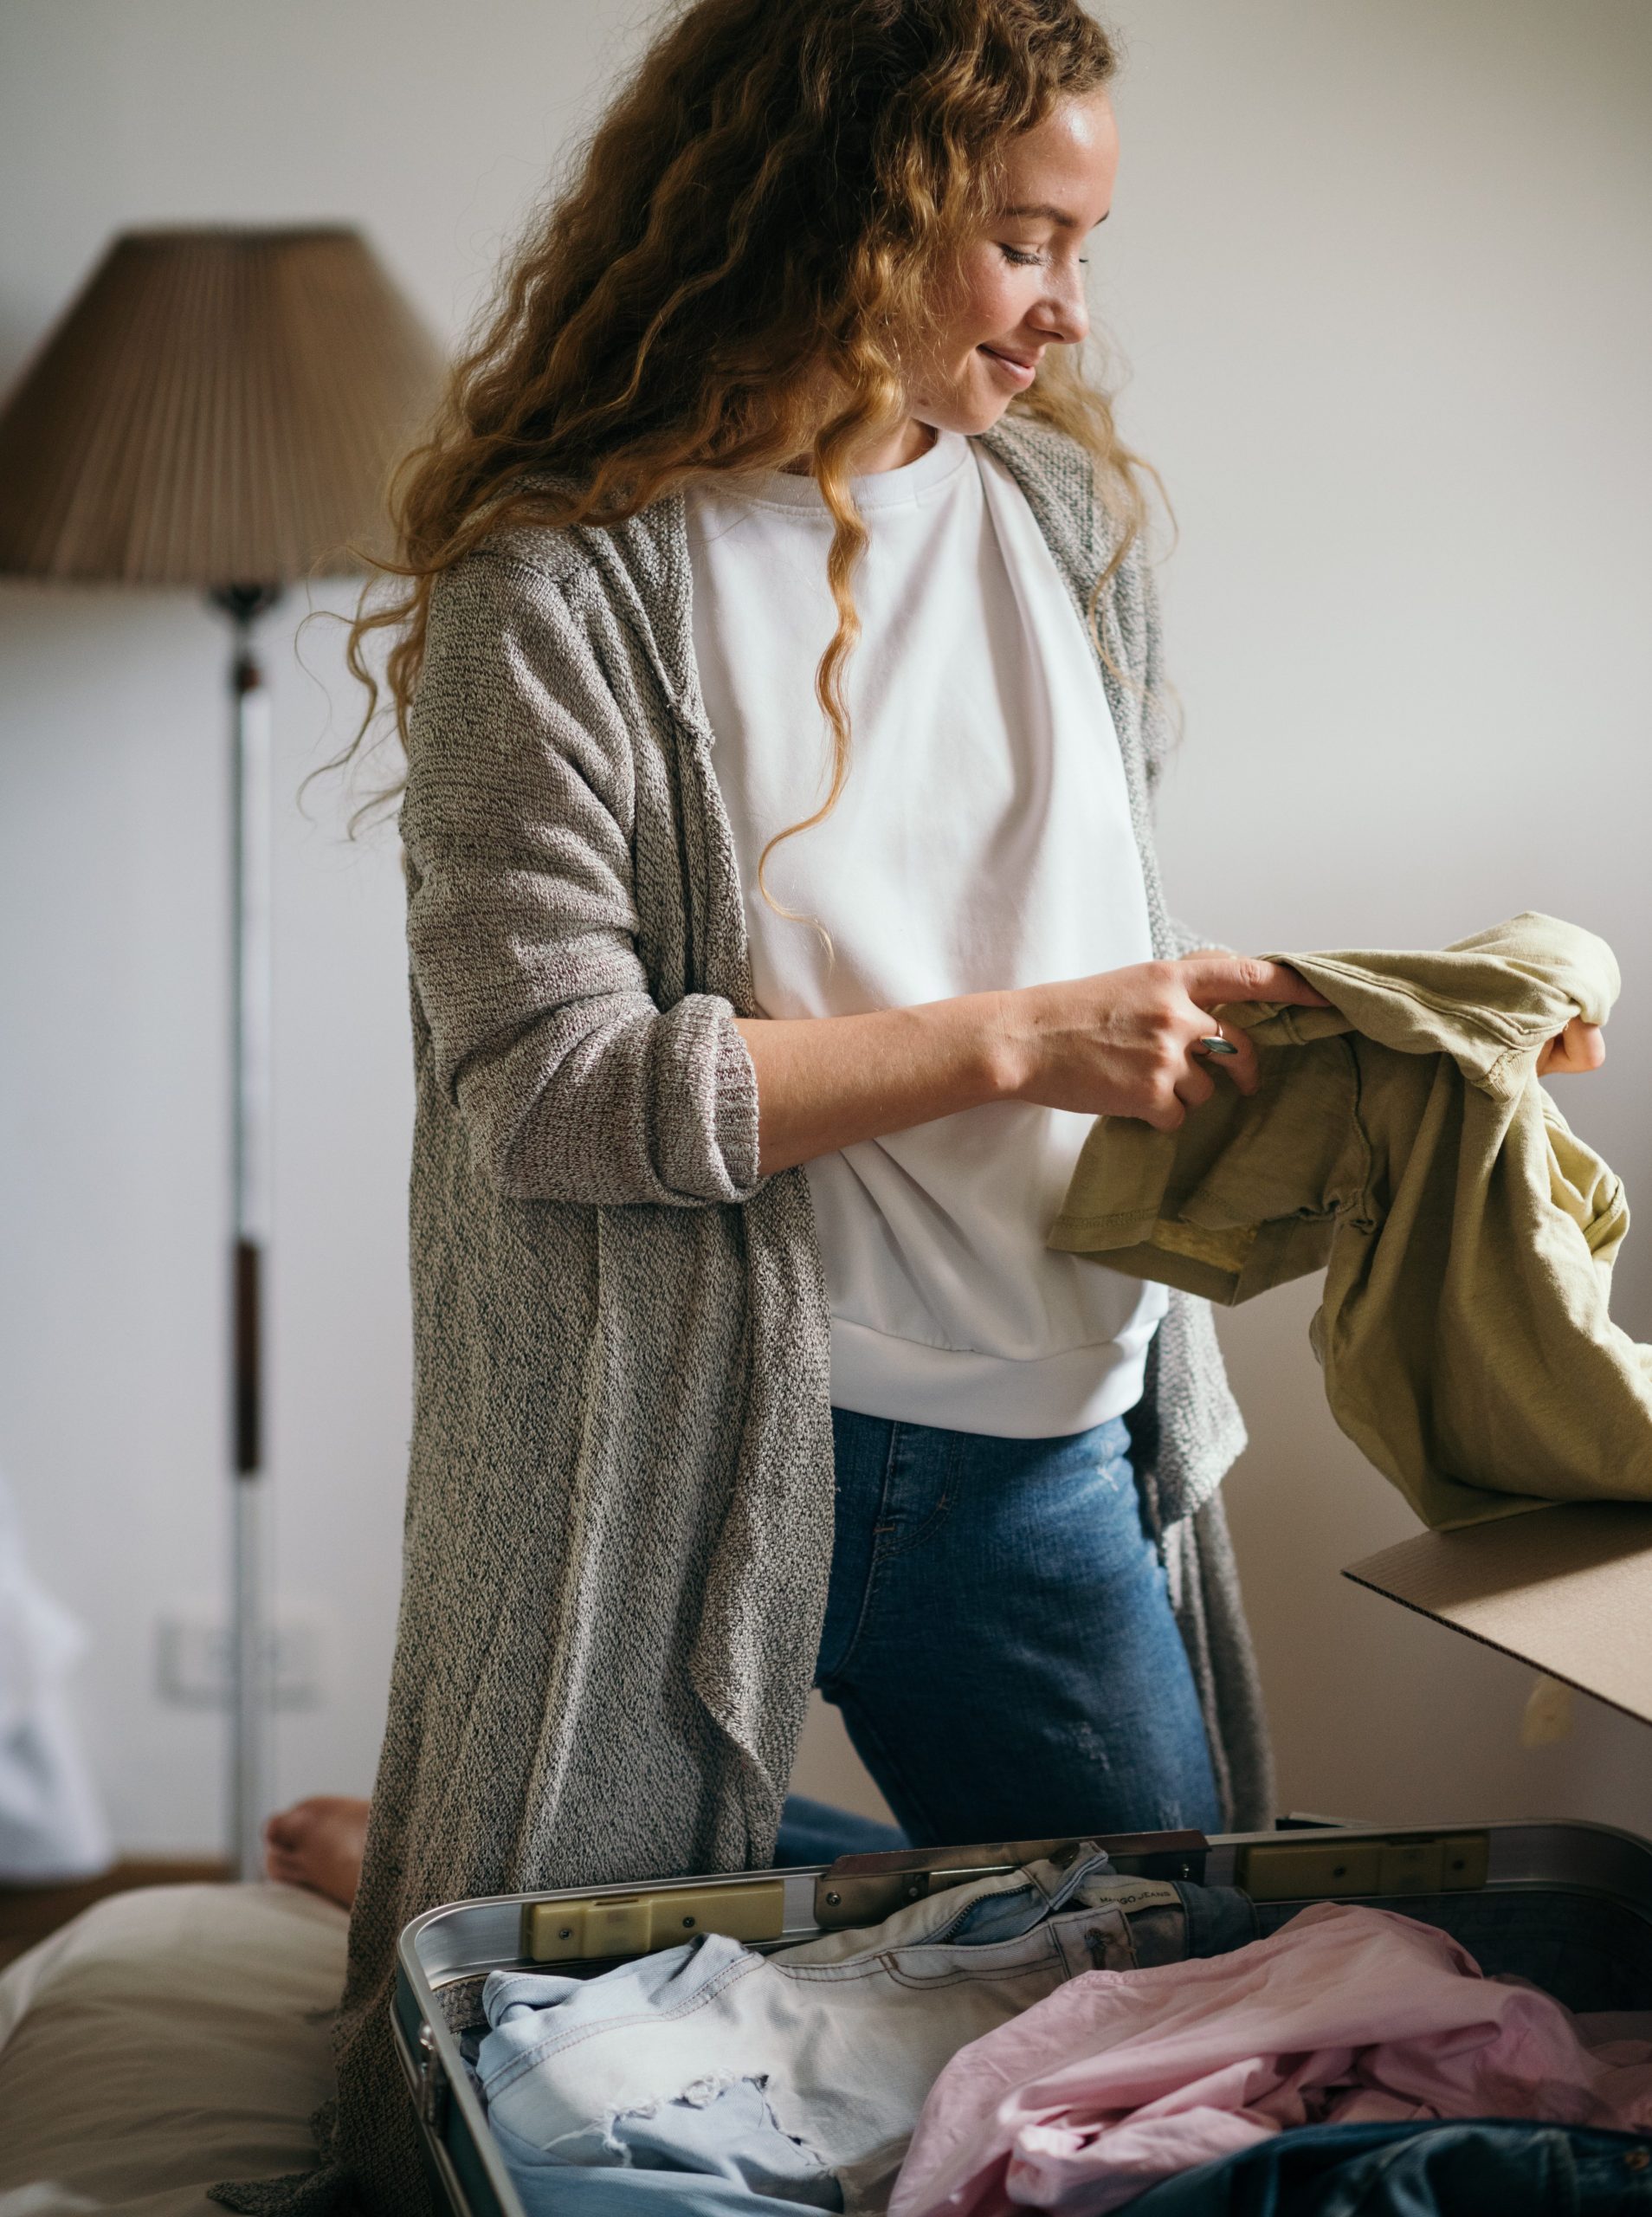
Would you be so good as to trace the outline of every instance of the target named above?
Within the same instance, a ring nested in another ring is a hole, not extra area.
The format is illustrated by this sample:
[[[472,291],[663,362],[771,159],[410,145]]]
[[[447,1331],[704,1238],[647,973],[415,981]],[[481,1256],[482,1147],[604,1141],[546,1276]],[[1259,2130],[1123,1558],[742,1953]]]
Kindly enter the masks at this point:
[[[415,1918],[397,1947],[392,2029],[426,2157],[452,2217],[523,2217],[459,2053],[490,1971],[608,1969],[694,1931],[769,1951],[823,1931],[876,1924],[909,1900],[1073,1847],[1016,1840],[832,1864],[563,1887],[452,1902]],[[1652,1927],[1652,1842],[1610,1825],[1446,1825],[1437,1829],[1293,1822],[1279,1831],[1102,1838],[1118,1869],[1244,1887],[1275,1909],[1357,1900],[1404,1909],[1437,1893],[1566,1893],[1610,1900]],[[585,1949],[594,1947],[596,1953]],[[1648,1995],[1652,2006],[1652,1993]]]

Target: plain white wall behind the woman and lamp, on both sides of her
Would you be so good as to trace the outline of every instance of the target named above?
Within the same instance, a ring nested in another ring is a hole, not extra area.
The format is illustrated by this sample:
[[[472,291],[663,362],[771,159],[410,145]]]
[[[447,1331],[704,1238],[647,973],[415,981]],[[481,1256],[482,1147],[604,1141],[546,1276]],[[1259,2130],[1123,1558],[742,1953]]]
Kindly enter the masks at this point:
[[[430,321],[470,313],[643,20],[563,0],[4,0],[0,379],[109,233],[359,219]],[[1652,1191],[1652,576],[1639,0],[1122,0],[1124,171],[1098,304],[1166,472],[1189,736],[1177,911],[1248,947],[1424,944],[1519,907],[1614,940],[1628,991],[1574,1113]],[[288,794],[353,716],[337,630],[266,632]],[[0,588],[0,1461],[93,1623],[120,1838],[211,1847],[222,1729],[157,1700],[153,1621],[226,1545],[224,641],[188,596]],[[408,1426],[410,1089],[395,854],[330,789],[277,867],[279,1587],[326,1698],[277,1789],[364,1789]],[[1231,1485],[1297,1807],[1652,1827],[1643,1727],[1523,1754],[1528,1674],[1337,1579],[1410,1528],[1339,1439],[1311,1288],[1224,1319]],[[1652,1246],[1621,1317],[1652,1337]],[[805,1782],[874,1807],[816,1720]]]

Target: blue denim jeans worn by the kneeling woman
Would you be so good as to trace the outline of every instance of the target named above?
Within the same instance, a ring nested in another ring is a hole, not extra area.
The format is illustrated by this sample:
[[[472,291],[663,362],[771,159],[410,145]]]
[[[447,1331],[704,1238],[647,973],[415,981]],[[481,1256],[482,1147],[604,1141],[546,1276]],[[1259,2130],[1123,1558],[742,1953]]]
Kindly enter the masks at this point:
[[[816,1685],[920,1847],[1217,1829],[1122,1421],[987,1439],[832,1410]]]

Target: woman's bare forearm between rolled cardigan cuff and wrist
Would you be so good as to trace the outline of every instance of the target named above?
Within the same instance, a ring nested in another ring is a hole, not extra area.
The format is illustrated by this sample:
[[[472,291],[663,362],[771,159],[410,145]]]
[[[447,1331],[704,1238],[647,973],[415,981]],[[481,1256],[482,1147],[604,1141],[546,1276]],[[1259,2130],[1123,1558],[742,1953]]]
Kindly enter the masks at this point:
[[[1002,993],[867,1015],[738,1018],[758,1097],[761,1171],[1007,1100]]]

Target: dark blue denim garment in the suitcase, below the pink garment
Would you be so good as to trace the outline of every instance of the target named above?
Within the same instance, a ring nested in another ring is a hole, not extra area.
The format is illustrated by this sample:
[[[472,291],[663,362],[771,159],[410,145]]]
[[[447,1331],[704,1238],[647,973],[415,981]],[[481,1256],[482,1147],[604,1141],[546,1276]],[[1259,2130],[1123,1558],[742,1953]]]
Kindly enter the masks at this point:
[[[1652,2217],[1652,2139],[1488,2117],[1304,2124],[1126,2204],[1129,2217]]]

